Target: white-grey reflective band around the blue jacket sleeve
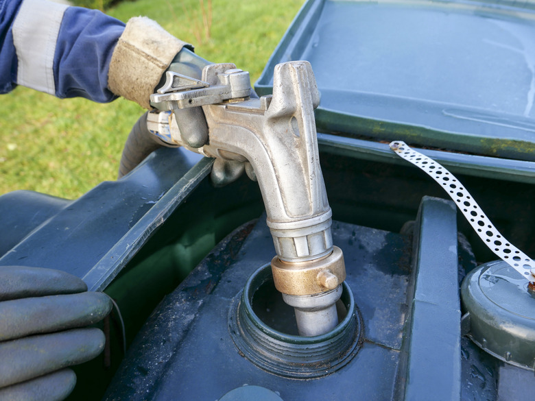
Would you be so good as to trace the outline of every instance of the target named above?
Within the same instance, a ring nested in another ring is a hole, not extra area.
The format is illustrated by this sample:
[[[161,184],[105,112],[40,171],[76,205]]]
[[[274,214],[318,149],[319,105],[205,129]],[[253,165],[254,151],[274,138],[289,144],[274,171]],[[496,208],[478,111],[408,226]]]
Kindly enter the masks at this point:
[[[13,24],[18,60],[16,83],[54,95],[53,61],[63,14],[68,5],[23,1]]]

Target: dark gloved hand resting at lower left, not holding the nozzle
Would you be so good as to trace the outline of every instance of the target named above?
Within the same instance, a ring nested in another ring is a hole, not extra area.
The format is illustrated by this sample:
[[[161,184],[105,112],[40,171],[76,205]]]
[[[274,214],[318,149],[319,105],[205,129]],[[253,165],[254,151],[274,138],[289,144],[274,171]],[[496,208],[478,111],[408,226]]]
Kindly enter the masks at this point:
[[[0,267],[0,400],[63,400],[71,365],[104,349],[104,334],[84,328],[111,310],[104,293],[86,292],[71,274],[38,267]]]

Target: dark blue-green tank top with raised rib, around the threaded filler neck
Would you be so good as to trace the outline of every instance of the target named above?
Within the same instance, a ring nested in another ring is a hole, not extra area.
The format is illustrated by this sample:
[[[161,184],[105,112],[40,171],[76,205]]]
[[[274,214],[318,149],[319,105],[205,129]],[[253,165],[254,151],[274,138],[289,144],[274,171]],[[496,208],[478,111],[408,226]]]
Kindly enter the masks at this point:
[[[219,400],[254,385],[285,401],[499,400],[498,384],[534,382],[460,335],[459,282],[473,260],[458,245],[455,213],[451,202],[425,197],[403,234],[333,222],[361,325],[353,354],[340,352],[348,363],[316,378],[266,372],[233,341],[241,335],[230,332],[233,305],[274,254],[262,217],[242,226],[158,306],[104,399]],[[263,321],[292,334],[270,302],[260,302]]]

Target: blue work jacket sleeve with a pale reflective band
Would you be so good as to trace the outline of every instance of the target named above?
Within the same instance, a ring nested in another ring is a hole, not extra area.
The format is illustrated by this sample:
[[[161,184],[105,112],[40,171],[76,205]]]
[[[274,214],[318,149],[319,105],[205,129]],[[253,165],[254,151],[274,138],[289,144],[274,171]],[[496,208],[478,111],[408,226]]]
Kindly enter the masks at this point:
[[[108,69],[123,30],[97,10],[0,0],[0,93],[20,84],[60,98],[112,101]]]

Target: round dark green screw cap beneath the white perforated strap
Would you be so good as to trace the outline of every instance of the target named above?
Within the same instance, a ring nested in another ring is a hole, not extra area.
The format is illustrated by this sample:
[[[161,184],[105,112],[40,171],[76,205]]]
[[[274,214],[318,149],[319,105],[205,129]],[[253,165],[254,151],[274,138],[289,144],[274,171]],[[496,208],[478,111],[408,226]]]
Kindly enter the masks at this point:
[[[461,286],[468,337],[501,361],[535,369],[535,292],[502,260],[471,271]]]

